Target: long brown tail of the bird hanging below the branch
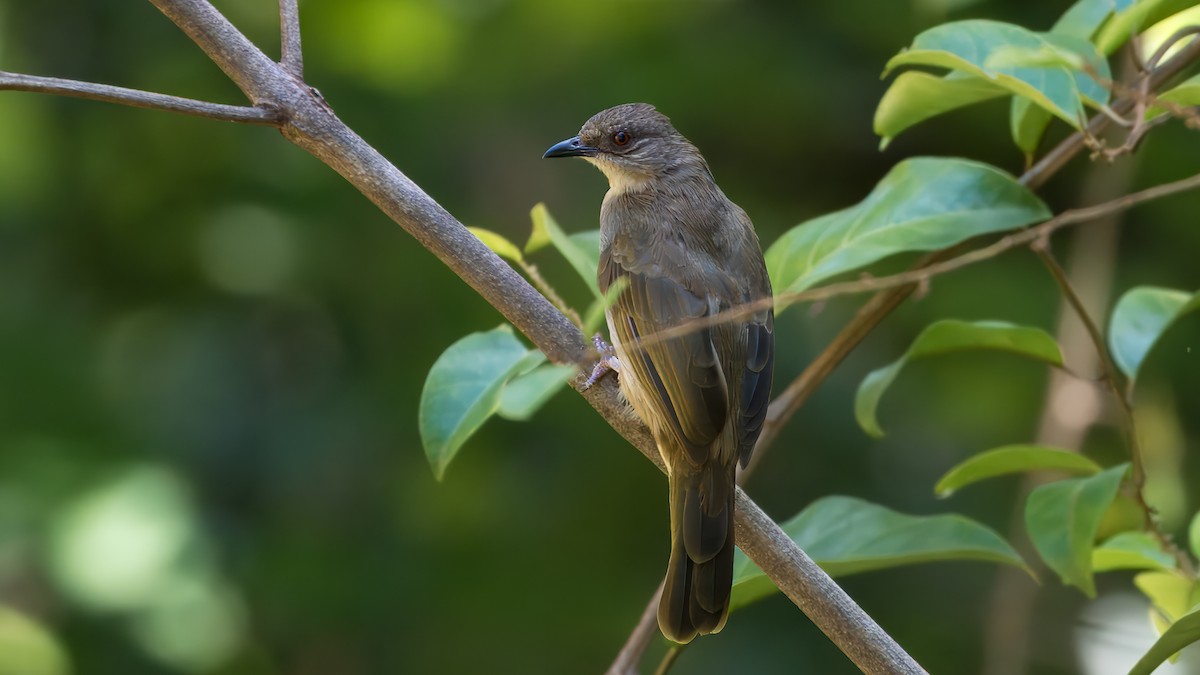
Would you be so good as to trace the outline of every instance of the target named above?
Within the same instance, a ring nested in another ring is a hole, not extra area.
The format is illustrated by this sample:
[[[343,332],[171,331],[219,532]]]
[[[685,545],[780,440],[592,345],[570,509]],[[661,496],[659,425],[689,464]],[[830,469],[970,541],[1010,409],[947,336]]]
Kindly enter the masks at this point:
[[[677,643],[716,633],[728,617],[733,477],[734,465],[715,461],[694,473],[671,472],[671,561],[659,601],[659,627]]]

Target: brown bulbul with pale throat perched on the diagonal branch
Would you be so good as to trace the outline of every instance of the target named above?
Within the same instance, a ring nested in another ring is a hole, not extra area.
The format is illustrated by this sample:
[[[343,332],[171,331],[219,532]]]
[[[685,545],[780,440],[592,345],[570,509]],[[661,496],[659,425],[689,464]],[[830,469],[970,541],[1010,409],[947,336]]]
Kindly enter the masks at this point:
[[[728,617],[734,476],[770,399],[774,313],[762,249],[700,150],[653,106],[596,113],[545,156],[583,157],[608,178],[600,289],[624,285],[606,311],[620,390],[670,474],[671,561],[659,627],[688,643]],[[749,316],[650,339],[756,301]]]

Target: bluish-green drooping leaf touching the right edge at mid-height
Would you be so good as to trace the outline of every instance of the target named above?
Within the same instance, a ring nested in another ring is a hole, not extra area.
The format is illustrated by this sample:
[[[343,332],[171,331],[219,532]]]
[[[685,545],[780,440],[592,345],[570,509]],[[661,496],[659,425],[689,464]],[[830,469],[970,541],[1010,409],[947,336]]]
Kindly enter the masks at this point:
[[[1200,293],[1139,286],[1117,300],[1109,322],[1112,360],[1130,381],[1138,378],[1146,354],[1181,316],[1200,307]]]

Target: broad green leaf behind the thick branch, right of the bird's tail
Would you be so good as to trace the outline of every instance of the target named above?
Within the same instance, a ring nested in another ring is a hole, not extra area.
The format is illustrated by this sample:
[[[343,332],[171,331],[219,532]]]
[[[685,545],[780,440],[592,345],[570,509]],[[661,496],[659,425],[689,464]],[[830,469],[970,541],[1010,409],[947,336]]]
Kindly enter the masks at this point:
[[[830,577],[947,560],[982,560],[1030,572],[991,528],[954,514],[907,515],[853,497],[822,497],[781,525]],[[1032,572],[1030,572],[1032,574]],[[740,550],[733,563],[731,607],[775,591]]]

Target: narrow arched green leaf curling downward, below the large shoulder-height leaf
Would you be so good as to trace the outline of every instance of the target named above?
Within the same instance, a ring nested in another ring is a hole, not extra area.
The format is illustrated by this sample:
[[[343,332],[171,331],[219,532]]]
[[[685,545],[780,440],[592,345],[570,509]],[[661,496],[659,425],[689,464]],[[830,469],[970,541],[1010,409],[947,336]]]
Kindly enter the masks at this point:
[[[900,370],[908,362],[961,352],[966,350],[991,350],[1012,352],[1031,359],[1062,366],[1062,352],[1046,331],[1040,328],[1015,325],[996,321],[956,321],[947,319],[930,324],[912,341],[908,351],[892,364],[874,370],[858,386],[854,395],[854,417],[859,426],[869,435],[880,438],[883,429],[876,419],[880,399]]]

